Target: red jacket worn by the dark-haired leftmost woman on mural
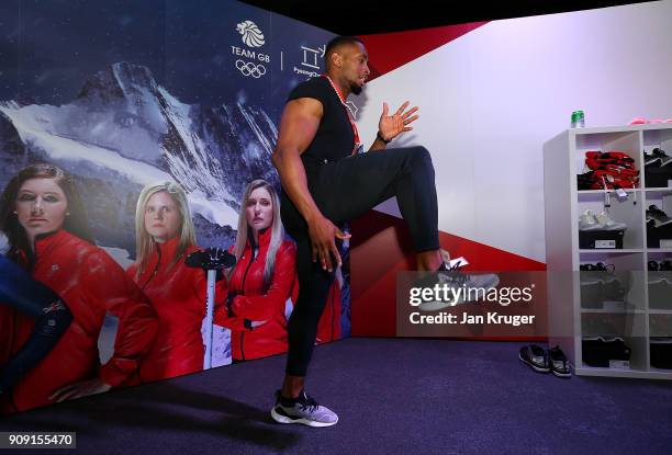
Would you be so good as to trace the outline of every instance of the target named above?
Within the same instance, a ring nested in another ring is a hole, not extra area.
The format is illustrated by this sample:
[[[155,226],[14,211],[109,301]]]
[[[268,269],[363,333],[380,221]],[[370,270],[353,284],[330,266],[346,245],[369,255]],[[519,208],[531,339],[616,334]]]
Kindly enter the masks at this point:
[[[59,230],[35,241],[35,258],[32,276],[60,295],[74,320],[56,346],[4,394],[7,397],[0,397],[2,412],[48,405],[48,396],[57,389],[97,376],[119,386],[135,374],[158,327],[147,298],[100,248]],[[119,329],[114,354],[101,366],[98,337],[107,311],[119,318]],[[12,317],[9,351],[15,354],[27,340],[34,319],[16,312]]]

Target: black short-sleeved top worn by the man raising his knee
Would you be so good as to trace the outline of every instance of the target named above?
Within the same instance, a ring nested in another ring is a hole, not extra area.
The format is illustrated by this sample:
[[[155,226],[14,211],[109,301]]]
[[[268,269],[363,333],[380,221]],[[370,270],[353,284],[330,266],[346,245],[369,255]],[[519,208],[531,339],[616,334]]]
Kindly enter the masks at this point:
[[[313,98],[322,103],[323,116],[315,138],[301,155],[303,166],[311,168],[327,161],[337,161],[350,156],[355,147],[355,134],[336,91],[324,77],[312,78],[292,90],[288,101]]]

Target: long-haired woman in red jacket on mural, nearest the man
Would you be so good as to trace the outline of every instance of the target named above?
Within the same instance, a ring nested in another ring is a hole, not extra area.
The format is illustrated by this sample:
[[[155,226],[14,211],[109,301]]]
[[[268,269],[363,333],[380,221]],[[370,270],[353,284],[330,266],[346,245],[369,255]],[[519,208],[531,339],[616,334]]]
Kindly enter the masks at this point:
[[[237,262],[228,273],[227,311],[217,311],[215,323],[232,330],[233,360],[285,352],[295,247],[284,240],[278,194],[264,180],[247,185],[232,253]]]

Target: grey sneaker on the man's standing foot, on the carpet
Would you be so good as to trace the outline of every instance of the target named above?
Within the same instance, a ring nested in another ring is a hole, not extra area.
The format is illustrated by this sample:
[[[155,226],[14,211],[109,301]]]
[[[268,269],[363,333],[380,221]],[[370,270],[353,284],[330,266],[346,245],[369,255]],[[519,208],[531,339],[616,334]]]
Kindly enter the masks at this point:
[[[271,417],[279,423],[301,423],[307,426],[332,426],[338,422],[338,416],[324,406],[317,405],[305,390],[296,399],[282,398],[280,390],[276,391],[276,406]]]

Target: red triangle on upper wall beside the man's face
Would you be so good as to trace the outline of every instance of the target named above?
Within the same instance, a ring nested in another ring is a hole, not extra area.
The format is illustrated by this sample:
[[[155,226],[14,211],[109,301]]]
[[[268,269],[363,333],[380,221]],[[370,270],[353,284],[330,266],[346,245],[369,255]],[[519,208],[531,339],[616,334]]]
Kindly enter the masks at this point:
[[[471,22],[408,32],[361,35],[369,52],[372,80],[486,24]]]

